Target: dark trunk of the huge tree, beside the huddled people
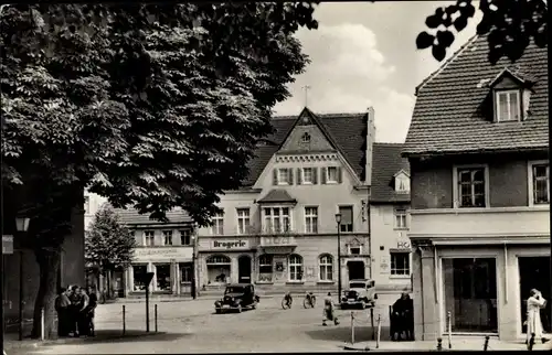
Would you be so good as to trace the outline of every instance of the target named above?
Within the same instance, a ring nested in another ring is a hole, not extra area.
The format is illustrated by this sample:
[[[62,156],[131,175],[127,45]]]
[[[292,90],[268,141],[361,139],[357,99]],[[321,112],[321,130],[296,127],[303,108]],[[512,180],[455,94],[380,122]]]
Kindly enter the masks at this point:
[[[32,337],[41,336],[41,310],[44,309],[44,337],[52,338],[55,334],[54,301],[57,293],[57,272],[60,269],[60,251],[39,249],[34,251],[40,268],[39,293],[34,301]]]

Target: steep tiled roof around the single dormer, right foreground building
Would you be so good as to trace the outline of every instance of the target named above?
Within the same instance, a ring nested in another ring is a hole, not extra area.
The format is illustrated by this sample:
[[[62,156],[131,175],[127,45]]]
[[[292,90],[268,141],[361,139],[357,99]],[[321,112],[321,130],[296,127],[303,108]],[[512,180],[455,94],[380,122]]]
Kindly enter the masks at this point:
[[[491,82],[505,68],[488,61],[487,36],[477,36],[418,90],[403,153],[440,154],[519,149],[543,149],[549,144],[548,51],[531,43],[516,62],[514,73],[535,82],[529,116],[521,122],[493,122]]]

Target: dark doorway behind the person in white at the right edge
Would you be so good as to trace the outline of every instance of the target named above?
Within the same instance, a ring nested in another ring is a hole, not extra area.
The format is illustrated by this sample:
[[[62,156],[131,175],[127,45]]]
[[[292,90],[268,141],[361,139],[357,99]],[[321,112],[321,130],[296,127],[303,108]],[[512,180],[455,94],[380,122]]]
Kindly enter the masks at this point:
[[[520,310],[521,310],[521,333],[527,333],[526,321],[527,299],[531,289],[538,289],[542,292],[545,300],[550,300],[550,257],[519,257],[519,290],[520,290]],[[546,308],[541,310],[541,321],[544,332],[551,332],[550,322],[550,301]]]

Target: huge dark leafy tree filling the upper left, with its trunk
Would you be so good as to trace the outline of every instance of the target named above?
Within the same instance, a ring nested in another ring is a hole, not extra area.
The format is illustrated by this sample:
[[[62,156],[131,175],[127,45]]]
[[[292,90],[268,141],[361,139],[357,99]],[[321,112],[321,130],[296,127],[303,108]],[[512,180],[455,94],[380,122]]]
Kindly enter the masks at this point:
[[[53,329],[60,248],[83,190],[200,225],[247,173],[272,107],[308,63],[314,3],[36,4],[0,17],[2,182],[32,203],[33,335]]]

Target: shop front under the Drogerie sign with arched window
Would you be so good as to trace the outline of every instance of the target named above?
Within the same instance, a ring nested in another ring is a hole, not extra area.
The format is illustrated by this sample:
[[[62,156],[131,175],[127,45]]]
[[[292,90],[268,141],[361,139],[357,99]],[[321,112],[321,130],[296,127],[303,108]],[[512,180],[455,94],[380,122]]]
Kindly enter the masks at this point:
[[[250,283],[254,275],[254,237],[203,237],[199,240],[199,284],[203,290]]]

